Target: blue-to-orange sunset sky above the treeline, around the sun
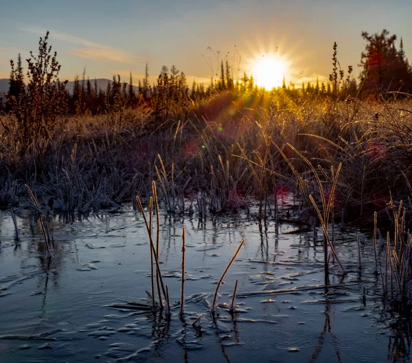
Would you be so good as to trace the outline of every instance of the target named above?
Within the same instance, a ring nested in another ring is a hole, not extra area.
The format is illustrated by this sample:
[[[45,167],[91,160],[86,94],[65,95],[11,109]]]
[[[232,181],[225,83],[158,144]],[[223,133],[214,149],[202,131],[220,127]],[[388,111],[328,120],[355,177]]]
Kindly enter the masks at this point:
[[[363,31],[402,36],[412,60],[411,15],[411,0],[0,0],[0,78],[9,77],[10,59],[36,52],[46,30],[60,79],[86,69],[91,79],[128,82],[132,72],[136,84],[148,62],[152,82],[162,65],[209,82],[220,60],[240,78],[275,54],[287,63],[286,82],[301,84],[328,78],[335,41],[342,69],[352,65],[357,76]]]

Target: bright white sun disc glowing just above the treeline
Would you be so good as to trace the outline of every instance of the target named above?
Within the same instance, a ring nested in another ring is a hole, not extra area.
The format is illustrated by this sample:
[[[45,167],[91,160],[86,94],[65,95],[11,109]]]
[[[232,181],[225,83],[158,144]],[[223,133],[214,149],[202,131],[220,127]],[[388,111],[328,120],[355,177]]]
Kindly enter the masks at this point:
[[[273,56],[262,56],[252,68],[256,84],[267,91],[282,86],[285,71],[285,64]]]

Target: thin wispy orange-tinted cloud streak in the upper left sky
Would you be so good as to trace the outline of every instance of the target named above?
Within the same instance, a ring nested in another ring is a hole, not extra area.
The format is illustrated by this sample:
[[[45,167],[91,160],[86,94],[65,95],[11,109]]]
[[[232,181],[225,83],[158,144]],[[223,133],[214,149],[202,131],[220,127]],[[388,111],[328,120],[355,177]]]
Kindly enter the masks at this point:
[[[21,30],[25,32],[31,32],[39,36],[44,36],[47,32],[46,29],[41,27],[22,27]],[[71,36],[69,34],[63,34],[59,32],[50,32],[52,38],[62,40],[74,45],[80,45],[81,47],[71,48],[70,54],[78,56],[80,58],[87,58],[93,60],[110,60],[113,62],[133,64],[136,62],[136,56],[113,47],[108,47],[99,43],[93,43],[87,39],[78,38],[77,36]]]

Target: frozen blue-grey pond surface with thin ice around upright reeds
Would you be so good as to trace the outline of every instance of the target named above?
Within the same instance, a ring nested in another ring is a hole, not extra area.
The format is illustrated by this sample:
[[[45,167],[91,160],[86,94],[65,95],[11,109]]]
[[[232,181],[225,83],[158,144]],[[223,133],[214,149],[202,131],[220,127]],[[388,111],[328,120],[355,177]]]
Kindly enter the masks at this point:
[[[333,265],[323,288],[323,237],[291,222],[260,231],[247,215],[161,215],[161,270],[172,316],[106,305],[146,303],[150,250],[130,209],[76,222],[49,217],[52,258],[28,215],[0,214],[0,362],[386,362],[409,361],[410,325],[382,305],[371,236],[335,231],[347,272]],[[185,321],[179,319],[181,228],[186,237]],[[208,303],[240,240],[246,242]],[[385,246],[378,246],[385,262]],[[238,312],[227,305],[238,279]],[[319,288],[319,286],[321,288]],[[274,292],[269,292],[275,290]],[[258,293],[260,292],[260,293]],[[224,305],[225,304],[225,305]]]

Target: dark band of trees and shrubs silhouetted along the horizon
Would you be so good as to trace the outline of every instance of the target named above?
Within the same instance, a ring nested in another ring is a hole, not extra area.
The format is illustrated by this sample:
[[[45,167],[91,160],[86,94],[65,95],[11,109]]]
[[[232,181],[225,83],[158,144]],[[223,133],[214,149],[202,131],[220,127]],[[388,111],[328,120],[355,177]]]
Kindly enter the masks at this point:
[[[337,45],[334,43],[332,73],[327,82],[319,83],[317,79],[314,84],[308,82],[297,87],[291,82],[286,84],[284,80],[277,91],[286,91],[301,98],[325,96],[335,99],[345,99],[348,96],[369,97],[396,91],[411,93],[412,68],[404,52],[402,38],[398,48],[396,35],[389,34],[387,30],[376,34],[362,32],[361,35],[366,46],[361,53],[362,71],[358,81],[352,77],[352,67],[348,67],[346,75],[341,69],[337,60]],[[83,72],[81,79],[76,76],[73,88],[69,90],[67,81],[60,82],[58,79],[60,65],[56,53],[53,54],[52,47],[47,44],[48,36],[47,32],[45,38],[41,38],[38,56],[30,52],[26,78],[20,54],[16,63],[10,61],[10,87],[5,99],[0,99],[0,110],[14,114],[21,124],[32,123],[32,116],[27,113],[29,104],[36,109],[35,115],[41,109],[40,115],[45,119],[49,118],[49,113],[56,114],[56,110],[71,115],[98,115],[142,105],[150,107],[156,117],[165,119],[170,113],[185,112],[192,104],[216,93],[258,91],[253,76],[246,72],[239,80],[233,79],[228,60],[220,62],[219,74],[214,75],[207,86],[196,81],[191,87],[188,86],[185,73],[174,65],[170,69],[163,66],[157,81],[149,84],[149,68],[146,64],[144,79],[139,80],[136,87],[131,73],[128,82],[122,82],[119,75],[114,75],[106,89],[102,89],[97,80],[86,78]],[[48,71],[44,72],[43,69]]]

